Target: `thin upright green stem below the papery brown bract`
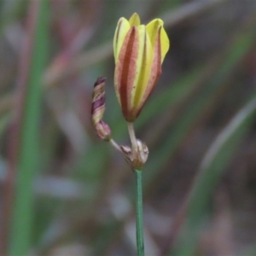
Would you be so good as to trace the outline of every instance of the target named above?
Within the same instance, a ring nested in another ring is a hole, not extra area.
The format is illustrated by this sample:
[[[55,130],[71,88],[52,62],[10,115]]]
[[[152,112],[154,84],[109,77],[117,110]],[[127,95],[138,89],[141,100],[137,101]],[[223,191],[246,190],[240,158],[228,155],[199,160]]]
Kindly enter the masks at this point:
[[[136,235],[137,235],[137,256],[144,256],[143,239],[143,172],[135,170],[137,200],[136,200]]]

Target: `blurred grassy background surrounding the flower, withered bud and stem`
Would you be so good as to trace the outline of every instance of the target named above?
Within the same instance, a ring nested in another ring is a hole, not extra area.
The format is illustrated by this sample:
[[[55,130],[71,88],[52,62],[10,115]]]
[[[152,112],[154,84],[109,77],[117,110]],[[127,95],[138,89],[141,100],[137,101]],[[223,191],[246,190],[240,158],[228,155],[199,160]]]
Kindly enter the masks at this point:
[[[120,17],[165,22],[171,49],[135,123],[148,256],[256,255],[254,0],[0,0],[0,255],[136,254],[135,178],[113,90]]]

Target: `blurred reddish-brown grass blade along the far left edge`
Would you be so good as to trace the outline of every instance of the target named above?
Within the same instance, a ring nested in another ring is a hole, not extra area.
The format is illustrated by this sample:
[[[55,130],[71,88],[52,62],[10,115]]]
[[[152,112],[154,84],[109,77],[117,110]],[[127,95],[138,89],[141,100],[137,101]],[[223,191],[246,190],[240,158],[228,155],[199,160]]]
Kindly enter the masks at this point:
[[[34,7],[32,6],[34,9]],[[12,212],[14,190],[15,190],[15,168],[17,166],[17,157],[18,157],[18,148],[19,148],[19,136],[20,136],[20,125],[21,125],[21,116],[22,116],[22,107],[23,107],[23,95],[26,92],[26,83],[28,80],[28,71],[30,66],[30,59],[32,55],[32,40],[35,32],[34,26],[34,12],[31,8],[27,18],[27,27],[28,27],[28,38],[23,44],[22,54],[20,55],[20,66],[18,74],[18,94],[15,108],[15,120],[11,126],[11,137],[9,142],[9,166],[7,170],[7,175],[3,182],[3,207],[1,214],[1,224],[0,224],[0,254],[6,254],[8,247],[8,236],[9,236],[9,224],[10,224],[10,215]],[[14,102],[14,101],[12,101]],[[4,103],[1,105],[5,105]]]

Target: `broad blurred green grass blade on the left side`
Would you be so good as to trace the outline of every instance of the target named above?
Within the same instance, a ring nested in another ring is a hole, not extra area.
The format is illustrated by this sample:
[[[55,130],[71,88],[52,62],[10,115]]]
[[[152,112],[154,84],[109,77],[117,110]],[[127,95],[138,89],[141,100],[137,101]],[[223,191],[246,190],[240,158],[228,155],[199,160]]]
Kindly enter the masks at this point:
[[[19,145],[17,163],[17,187],[15,191],[14,216],[9,240],[9,255],[27,255],[32,241],[32,180],[38,172],[38,141],[40,100],[42,96],[42,75],[47,55],[47,25],[49,18],[49,2],[32,1],[30,22],[31,58],[26,70],[28,79],[25,80],[19,108],[22,109],[19,126],[19,136],[16,145]],[[34,36],[33,36],[34,34]]]

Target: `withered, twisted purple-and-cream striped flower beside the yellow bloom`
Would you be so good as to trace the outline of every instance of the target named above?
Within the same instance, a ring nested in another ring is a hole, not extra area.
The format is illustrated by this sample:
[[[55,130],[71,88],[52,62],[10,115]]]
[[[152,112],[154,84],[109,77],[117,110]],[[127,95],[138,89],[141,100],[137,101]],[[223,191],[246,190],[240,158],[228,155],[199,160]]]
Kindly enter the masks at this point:
[[[111,139],[111,131],[109,126],[102,121],[105,112],[105,78],[99,77],[94,84],[91,104],[91,120],[96,130],[97,136],[102,140],[109,141]]]

